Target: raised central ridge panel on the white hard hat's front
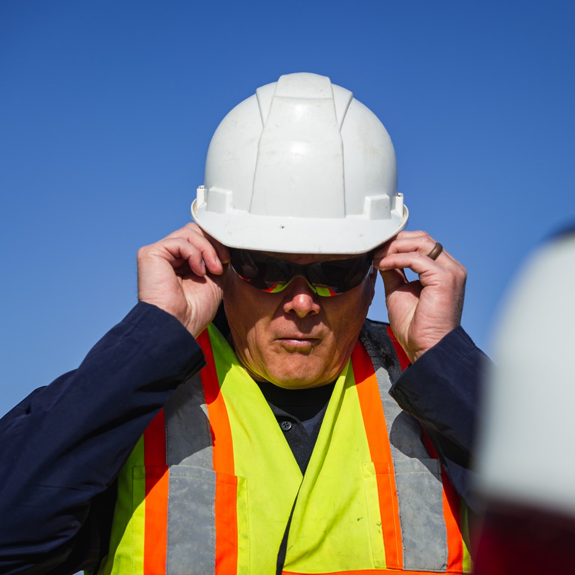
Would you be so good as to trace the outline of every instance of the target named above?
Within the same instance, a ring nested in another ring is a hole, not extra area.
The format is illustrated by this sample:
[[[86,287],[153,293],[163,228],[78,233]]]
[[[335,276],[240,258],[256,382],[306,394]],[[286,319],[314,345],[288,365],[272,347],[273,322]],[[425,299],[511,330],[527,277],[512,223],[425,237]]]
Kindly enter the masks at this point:
[[[343,143],[331,82],[281,76],[259,139],[250,212],[261,216],[345,217]],[[287,193],[270,194],[283,187]]]

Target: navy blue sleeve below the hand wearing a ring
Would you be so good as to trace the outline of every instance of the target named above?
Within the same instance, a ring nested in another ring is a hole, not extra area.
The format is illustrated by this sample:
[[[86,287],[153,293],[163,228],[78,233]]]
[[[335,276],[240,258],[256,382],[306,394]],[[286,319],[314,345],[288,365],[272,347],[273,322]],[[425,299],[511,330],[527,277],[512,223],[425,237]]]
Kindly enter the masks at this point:
[[[400,407],[419,420],[451,483],[473,511],[478,502],[469,467],[488,363],[458,327],[409,366],[390,390]]]

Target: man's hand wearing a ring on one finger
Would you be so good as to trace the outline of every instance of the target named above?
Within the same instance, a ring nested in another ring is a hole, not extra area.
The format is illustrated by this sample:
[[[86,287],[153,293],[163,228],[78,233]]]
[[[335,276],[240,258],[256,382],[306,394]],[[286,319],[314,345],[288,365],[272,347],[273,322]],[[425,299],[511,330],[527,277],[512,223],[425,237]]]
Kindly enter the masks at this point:
[[[434,246],[425,232],[400,232],[373,260],[384,280],[389,323],[412,363],[461,322],[467,272],[446,251],[428,258]],[[419,279],[408,282],[405,267]]]

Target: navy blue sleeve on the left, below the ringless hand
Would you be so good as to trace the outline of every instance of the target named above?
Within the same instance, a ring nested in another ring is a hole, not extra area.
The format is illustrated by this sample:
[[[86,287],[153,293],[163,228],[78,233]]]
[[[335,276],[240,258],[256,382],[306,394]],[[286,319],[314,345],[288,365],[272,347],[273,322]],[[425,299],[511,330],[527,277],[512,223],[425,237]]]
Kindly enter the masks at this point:
[[[0,420],[0,573],[85,568],[82,558],[68,563],[91,502],[171,393],[203,366],[183,325],[140,302],[78,369]]]

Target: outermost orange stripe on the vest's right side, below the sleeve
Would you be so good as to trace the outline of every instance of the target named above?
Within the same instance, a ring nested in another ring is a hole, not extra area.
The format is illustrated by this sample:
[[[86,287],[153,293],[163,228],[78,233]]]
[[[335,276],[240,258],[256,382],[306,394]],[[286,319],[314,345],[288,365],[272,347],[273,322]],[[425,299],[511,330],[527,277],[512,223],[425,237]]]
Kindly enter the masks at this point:
[[[425,447],[430,456],[439,459],[435,447],[427,434],[424,434]],[[461,536],[461,500],[455,491],[447,473],[441,466],[441,480],[443,482],[443,519],[447,531],[447,569],[446,572],[463,572],[463,539]]]

